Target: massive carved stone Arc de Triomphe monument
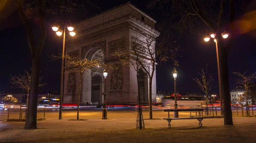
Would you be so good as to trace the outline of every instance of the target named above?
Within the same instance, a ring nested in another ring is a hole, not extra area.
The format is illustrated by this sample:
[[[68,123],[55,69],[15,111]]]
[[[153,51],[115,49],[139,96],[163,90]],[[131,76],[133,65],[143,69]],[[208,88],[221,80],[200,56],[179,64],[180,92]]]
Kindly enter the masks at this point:
[[[123,65],[112,55],[113,46],[124,39],[131,40],[140,31],[153,33],[156,21],[131,3],[118,6],[90,19],[78,22],[76,36],[66,42],[66,52],[70,55],[100,60],[115,68],[108,72],[106,79],[107,104],[137,104],[137,75],[134,67]],[[102,104],[103,67],[84,72],[81,85],[81,103]],[[140,71],[140,93],[142,103],[148,104],[149,79]],[[79,93],[79,73],[64,75],[64,103],[76,103]],[[152,82],[152,102],[156,102],[156,77]]]

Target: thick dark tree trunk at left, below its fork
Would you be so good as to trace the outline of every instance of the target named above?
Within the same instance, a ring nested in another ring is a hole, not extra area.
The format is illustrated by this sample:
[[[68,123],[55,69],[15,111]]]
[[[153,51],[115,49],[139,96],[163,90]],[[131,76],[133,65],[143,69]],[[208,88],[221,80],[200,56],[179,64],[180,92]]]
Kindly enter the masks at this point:
[[[32,57],[32,76],[30,86],[29,108],[24,129],[37,129],[38,86],[40,77],[41,56]]]

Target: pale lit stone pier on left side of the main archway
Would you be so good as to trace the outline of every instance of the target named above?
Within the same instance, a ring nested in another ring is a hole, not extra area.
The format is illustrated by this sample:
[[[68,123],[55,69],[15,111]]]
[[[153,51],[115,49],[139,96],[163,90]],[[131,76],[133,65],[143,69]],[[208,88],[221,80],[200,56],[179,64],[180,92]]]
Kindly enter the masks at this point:
[[[86,104],[86,102],[90,103],[92,97],[92,78],[91,78],[91,70],[84,71],[83,78],[83,91],[82,91],[82,102]]]

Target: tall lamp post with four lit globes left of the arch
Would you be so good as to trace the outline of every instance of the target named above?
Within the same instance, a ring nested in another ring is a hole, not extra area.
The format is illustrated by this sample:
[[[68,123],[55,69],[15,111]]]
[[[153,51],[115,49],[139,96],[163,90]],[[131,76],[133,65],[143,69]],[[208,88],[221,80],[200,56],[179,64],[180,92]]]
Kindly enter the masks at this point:
[[[60,22],[60,25],[57,24]],[[62,27],[61,27],[62,26]],[[61,62],[61,91],[60,91],[60,109],[59,109],[59,120],[62,119],[62,102],[63,102],[63,73],[64,73],[64,52],[65,52],[65,37],[66,37],[66,28],[70,31],[70,36],[75,36],[76,33],[74,31],[74,26],[71,25],[70,20],[67,22],[63,22],[61,20],[57,20],[54,25],[52,25],[52,30],[56,31],[58,36],[61,36],[63,33],[63,48],[62,48],[62,62]]]

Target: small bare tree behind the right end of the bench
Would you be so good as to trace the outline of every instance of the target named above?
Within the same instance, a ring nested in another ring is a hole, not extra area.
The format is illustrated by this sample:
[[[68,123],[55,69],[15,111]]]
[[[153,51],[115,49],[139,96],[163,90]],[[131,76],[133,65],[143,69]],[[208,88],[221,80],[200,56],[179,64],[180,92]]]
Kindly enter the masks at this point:
[[[212,79],[212,75],[208,74],[207,65],[206,71],[204,72],[204,70],[202,69],[199,75],[201,76],[200,78],[195,78],[193,80],[197,83],[197,86],[204,92],[206,98],[206,106],[208,107],[207,96],[209,94],[209,91],[213,88],[212,81],[214,79]],[[208,108],[206,109],[206,114],[208,115]]]

